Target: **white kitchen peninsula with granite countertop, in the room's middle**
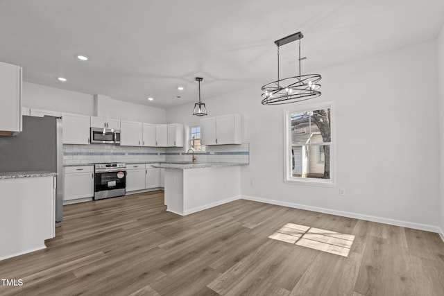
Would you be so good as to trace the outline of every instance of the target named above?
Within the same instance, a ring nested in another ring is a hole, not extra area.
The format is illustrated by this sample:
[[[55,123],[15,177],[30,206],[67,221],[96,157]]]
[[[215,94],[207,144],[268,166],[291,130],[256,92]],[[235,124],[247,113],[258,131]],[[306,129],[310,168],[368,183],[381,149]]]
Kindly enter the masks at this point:
[[[186,216],[216,207],[241,195],[241,165],[214,162],[169,162],[165,168],[167,211]]]

